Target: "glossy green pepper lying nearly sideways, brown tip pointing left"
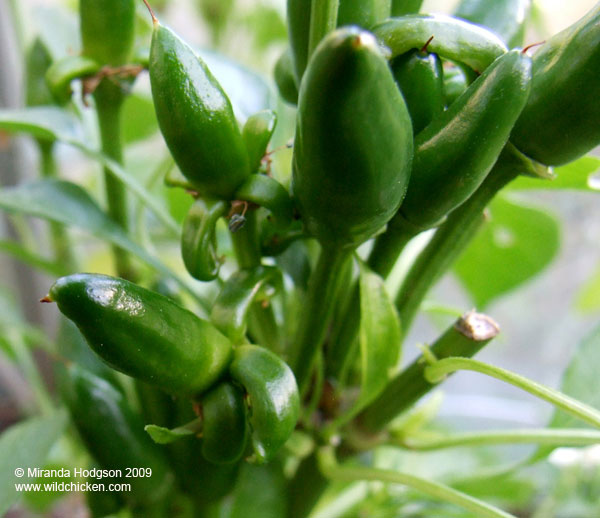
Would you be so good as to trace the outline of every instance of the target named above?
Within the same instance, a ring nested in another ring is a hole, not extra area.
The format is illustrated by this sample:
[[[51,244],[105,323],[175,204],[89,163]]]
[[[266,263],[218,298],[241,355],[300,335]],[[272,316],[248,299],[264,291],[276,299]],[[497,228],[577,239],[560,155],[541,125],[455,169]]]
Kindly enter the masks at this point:
[[[170,394],[202,393],[231,360],[231,343],[210,323],[123,279],[70,275],[49,297],[106,363]]]

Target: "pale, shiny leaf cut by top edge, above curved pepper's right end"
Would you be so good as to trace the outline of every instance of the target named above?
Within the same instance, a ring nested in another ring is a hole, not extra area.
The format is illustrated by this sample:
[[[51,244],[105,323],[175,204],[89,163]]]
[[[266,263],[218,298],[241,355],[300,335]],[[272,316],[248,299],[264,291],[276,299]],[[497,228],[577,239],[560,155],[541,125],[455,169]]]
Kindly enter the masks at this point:
[[[510,48],[523,44],[531,0],[462,0],[454,16],[495,32]]]

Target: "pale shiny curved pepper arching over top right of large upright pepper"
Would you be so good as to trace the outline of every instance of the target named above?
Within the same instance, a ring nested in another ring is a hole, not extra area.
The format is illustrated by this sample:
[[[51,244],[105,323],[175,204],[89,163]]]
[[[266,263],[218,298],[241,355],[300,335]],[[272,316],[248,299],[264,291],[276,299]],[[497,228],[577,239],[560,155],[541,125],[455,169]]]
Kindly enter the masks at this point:
[[[390,59],[427,45],[428,51],[440,57],[483,72],[507,51],[502,40],[487,29],[440,14],[391,18],[372,30],[381,44],[390,50]]]

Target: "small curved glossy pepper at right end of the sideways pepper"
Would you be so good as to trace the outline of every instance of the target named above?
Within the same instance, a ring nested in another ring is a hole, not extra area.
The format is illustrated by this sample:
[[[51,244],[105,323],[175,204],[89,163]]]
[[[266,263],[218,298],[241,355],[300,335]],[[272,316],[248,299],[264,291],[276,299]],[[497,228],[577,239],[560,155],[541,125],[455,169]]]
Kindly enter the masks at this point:
[[[257,461],[265,462],[283,446],[298,421],[296,380],[283,360],[256,345],[237,347],[229,372],[247,393],[252,447]]]

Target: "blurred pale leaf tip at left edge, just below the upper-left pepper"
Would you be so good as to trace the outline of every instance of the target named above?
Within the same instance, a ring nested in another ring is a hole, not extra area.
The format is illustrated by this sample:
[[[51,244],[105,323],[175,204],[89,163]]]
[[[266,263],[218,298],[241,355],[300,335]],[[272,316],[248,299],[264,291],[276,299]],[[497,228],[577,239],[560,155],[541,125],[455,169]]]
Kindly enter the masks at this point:
[[[56,106],[0,110],[0,129],[64,142],[80,142],[82,134],[78,119],[72,113]]]

